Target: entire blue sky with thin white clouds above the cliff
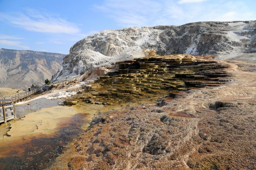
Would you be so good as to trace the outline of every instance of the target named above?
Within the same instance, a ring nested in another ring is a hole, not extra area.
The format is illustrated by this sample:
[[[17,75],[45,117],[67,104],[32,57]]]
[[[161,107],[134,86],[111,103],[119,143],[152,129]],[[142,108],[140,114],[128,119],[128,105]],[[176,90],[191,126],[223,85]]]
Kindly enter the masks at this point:
[[[255,0],[0,0],[0,48],[68,54],[105,29],[256,20]]]

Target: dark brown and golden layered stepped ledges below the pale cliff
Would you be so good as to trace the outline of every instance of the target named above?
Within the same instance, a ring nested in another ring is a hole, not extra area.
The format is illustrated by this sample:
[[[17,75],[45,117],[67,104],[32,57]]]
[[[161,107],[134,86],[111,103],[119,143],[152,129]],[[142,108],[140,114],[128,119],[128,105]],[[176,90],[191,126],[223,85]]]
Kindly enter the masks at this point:
[[[117,62],[113,67],[95,68],[87,80],[101,74],[86,86],[83,99],[94,104],[125,104],[155,101],[169,91],[214,87],[230,81],[228,65],[204,61],[200,56],[168,55]],[[98,70],[98,71],[96,71]],[[105,76],[103,76],[105,74]]]

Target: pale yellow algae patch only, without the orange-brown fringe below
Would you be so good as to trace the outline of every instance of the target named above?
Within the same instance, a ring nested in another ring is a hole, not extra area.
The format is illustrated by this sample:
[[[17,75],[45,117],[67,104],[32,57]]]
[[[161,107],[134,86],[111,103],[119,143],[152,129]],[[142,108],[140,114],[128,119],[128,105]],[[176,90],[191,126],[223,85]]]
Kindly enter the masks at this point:
[[[103,105],[92,105],[85,102],[79,102],[71,107],[56,106],[42,108],[39,111],[28,113],[20,120],[13,120],[0,125],[0,137],[19,137],[22,135],[41,133],[51,134],[57,124],[63,121],[63,118],[76,115],[77,113],[84,114],[84,124],[82,129],[86,129],[91,122],[92,117],[100,111],[105,111]],[[1,138],[0,138],[1,141]]]

